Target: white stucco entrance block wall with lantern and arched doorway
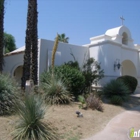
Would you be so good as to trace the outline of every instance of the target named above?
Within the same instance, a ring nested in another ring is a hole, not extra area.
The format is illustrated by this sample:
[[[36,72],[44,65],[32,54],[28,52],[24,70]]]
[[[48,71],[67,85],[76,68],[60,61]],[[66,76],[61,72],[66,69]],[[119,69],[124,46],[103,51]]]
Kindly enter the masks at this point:
[[[122,64],[122,62],[125,60],[130,60],[135,65],[137,71],[136,78],[138,79],[138,50],[127,48],[124,45],[115,42],[106,41],[98,44],[91,44],[89,52],[90,57],[94,57],[98,62],[100,62],[101,68],[104,69],[105,77],[99,82],[99,86],[103,86],[111,79],[116,79],[122,75],[121,68],[116,68],[114,70],[116,59],[120,60],[120,64]]]

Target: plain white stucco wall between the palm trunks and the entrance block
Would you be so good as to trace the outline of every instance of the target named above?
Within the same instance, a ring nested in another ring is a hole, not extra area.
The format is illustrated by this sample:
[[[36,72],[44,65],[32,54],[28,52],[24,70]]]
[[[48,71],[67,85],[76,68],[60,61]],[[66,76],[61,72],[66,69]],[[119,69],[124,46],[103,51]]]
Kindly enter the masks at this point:
[[[54,41],[41,39],[40,42],[40,69],[39,74],[44,72],[44,70],[48,69],[48,61],[51,62],[51,52],[54,46]],[[79,62],[80,66],[83,64],[85,55],[88,55],[88,48],[84,46],[72,45],[67,43],[59,42],[57,53],[56,53],[56,60],[55,65],[61,65],[68,61],[74,61],[73,57],[71,56],[71,51],[75,56],[75,59]],[[49,60],[48,60],[49,59]]]

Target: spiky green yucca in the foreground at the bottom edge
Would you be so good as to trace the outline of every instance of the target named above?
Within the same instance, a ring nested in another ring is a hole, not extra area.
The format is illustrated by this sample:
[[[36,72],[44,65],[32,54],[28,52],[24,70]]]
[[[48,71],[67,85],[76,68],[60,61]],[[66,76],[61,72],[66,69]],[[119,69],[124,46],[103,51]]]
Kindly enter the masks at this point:
[[[19,120],[13,131],[14,140],[58,140],[58,137],[49,123],[43,123],[46,108],[39,96],[25,95],[17,103]]]

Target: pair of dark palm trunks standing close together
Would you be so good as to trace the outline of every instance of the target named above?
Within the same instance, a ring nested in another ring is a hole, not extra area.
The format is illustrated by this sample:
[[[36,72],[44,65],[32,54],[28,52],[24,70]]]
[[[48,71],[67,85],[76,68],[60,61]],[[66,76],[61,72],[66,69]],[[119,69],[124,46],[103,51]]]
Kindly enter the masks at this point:
[[[37,0],[28,0],[25,54],[21,87],[25,89],[26,80],[38,80],[38,41],[37,41]]]

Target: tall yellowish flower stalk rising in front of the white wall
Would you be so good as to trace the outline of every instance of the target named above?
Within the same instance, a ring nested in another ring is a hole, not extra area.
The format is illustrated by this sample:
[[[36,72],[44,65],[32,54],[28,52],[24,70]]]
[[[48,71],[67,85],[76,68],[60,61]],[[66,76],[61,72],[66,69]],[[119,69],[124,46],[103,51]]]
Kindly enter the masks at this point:
[[[55,53],[58,47],[58,39],[59,39],[59,36],[57,34],[57,37],[55,39],[54,46],[53,46],[53,51],[52,51],[52,69],[54,68]]]

